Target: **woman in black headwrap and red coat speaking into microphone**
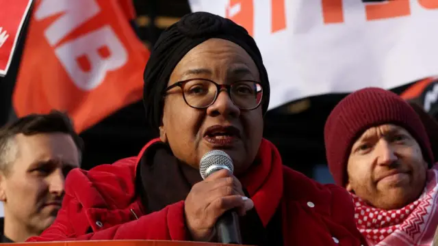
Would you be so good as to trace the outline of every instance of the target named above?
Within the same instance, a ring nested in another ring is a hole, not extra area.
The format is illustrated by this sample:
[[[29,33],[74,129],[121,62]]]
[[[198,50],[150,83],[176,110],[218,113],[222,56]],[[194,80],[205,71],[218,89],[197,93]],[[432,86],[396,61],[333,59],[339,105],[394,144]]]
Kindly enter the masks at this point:
[[[243,27],[205,12],[184,16],[162,33],[144,70],[146,117],[159,139],[138,156],[71,171],[57,219],[28,241],[218,242],[218,220],[235,211],[246,245],[365,244],[348,193],[283,166],[262,138],[269,96]],[[212,150],[224,159],[209,161],[232,166],[204,180],[200,163]]]

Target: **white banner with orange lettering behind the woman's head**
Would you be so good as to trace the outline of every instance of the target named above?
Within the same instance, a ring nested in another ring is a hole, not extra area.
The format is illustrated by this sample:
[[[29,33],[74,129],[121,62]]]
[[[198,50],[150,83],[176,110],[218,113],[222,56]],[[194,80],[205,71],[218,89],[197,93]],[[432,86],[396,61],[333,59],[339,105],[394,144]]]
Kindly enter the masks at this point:
[[[438,74],[438,0],[190,0],[255,38],[270,109],[362,87],[398,87]]]

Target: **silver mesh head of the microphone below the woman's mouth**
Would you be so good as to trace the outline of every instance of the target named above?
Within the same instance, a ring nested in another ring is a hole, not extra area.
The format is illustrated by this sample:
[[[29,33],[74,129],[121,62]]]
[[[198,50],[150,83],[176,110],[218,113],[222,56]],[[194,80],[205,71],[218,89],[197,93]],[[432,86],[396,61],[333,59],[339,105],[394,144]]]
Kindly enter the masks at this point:
[[[231,157],[222,150],[211,150],[205,153],[199,162],[199,173],[203,179],[220,169],[228,169],[231,174],[234,171]]]

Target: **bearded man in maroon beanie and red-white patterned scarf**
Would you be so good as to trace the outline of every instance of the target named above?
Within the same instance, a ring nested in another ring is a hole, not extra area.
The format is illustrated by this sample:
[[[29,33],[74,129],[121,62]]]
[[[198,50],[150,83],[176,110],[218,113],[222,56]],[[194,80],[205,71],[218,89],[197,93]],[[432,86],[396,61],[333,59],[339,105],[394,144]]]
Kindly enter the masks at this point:
[[[352,195],[357,228],[369,245],[431,245],[437,166],[407,102],[374,87],[354,92],[329,115],[324,141],[330,172]]]

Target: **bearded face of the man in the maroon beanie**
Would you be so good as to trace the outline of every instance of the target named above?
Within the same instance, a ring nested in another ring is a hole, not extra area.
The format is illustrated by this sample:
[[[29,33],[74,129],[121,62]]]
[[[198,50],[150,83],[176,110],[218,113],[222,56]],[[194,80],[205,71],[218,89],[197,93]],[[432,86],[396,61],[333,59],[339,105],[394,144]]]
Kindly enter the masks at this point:
[[[376,208],[401,208],[422,193],[427,166],[419,144],[404,128],[372,127],[352,146],[346,189]]]

